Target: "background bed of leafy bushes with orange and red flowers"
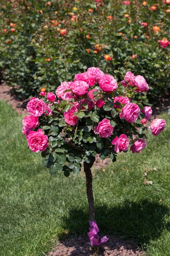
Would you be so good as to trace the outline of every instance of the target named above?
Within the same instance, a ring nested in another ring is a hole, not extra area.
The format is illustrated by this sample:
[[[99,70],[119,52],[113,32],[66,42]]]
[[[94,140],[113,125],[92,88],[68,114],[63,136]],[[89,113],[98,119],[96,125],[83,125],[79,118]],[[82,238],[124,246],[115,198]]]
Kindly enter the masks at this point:
[[[128,1],[127,1],[128,2]],[[155,103],[169,90],[170,5],[165,1],[2,0],[0,68],[20,97],[96,66],[120,80],[126,71],[144,75]]]

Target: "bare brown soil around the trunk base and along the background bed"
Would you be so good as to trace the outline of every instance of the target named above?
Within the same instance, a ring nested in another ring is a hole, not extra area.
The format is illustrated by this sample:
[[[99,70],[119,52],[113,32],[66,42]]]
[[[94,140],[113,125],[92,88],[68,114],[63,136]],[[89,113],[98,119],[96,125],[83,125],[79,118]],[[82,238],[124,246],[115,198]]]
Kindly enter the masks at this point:
[[[29,99],[21,100],[14,93],[13,88],[7,86],[3,81],[0,84],[0,100],[7,101],[11,107],[20,115],[28,115],[26,104]],[[152,117],[159,116],[160,113],[170,109],[170,95],[167,93],[161,98],[159,104],[152,108]],[[101,171],[109,163],[109,159],[102,160],[97,155],[94,168],[100,168]],[[78,238],[70,238],[61,240],[57,246],[51,248],[46,256],[144,256],[144,252],[137,247],[135,243],[128,240],[120,240],[116,236],[108,236],[109,240],[106,244],[100,245],[95,252],[94,248],[89,245],[88,235],[79,236]]]

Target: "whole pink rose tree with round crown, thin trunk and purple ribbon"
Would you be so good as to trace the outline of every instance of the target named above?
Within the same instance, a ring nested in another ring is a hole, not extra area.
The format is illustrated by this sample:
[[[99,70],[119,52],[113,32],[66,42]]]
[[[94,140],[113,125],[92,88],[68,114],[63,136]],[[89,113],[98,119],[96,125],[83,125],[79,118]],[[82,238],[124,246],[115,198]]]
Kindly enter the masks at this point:
[[[159,135],[166,121],[150,120],[152,109],[135,101],[135,95],[149,90],[143,76],[128,71],[118,85],[113,76],[97,67],[62,82],[53,92],[40,92],[27,104],[30,115],[23,119],[23,134],[33,152],[42,152],[43,166],[51,175],[63,171],[67,177],[84,166],[89,206],[91,245],[99,242],[95,222],[91,167],[95,156],[115,162],[117,153],[139,153],[148,134]]]

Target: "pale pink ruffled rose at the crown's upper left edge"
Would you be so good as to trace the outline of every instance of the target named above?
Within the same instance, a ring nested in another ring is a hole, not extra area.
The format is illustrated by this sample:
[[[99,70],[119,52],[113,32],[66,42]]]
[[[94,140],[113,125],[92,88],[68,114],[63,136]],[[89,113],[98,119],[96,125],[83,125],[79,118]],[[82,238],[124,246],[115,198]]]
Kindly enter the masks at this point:
[[[55,94],[59,99],[68,101],[69,99],[73,98],[71,92],[65,92],[66,90],[71,90],[71,83],[72,82],[62,82],[56,89]]]

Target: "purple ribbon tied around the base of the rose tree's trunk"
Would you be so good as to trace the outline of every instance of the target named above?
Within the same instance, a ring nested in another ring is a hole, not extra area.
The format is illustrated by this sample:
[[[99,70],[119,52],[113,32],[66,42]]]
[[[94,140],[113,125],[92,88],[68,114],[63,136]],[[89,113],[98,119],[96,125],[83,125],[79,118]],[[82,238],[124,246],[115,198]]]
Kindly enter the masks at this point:
[[[102,239],[99,242],[99,228],[97,227],[97,223],[93,220],[89,220],[89,232],[87,233],[89,238],[90,238],[90,242],[91,242],[91,246],[93,245],[101,245],[102,243],[106,243],[108,238],[107,236],[102,237]]]

